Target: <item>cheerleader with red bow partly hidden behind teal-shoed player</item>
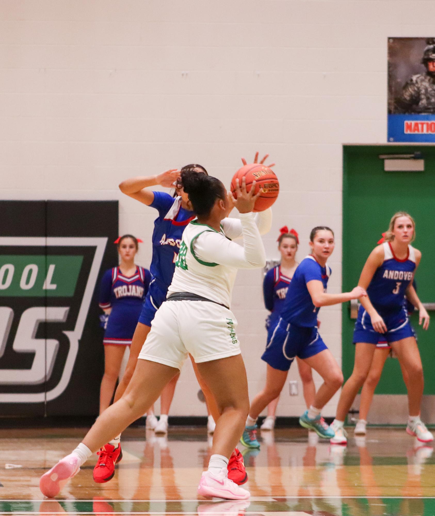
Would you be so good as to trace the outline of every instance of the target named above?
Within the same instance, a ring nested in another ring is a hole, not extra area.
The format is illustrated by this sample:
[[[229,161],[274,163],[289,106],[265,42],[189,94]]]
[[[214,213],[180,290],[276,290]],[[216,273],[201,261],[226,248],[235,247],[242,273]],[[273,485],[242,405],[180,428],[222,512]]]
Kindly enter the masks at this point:
[[[284,307],[285,296],[288,286],[292,281],[293,274],[299,263],[296,261],[296,253],[299,245],[299,237],[294,229],[288,230],[287,226],[280,229],[278,237],[278,251],[281,254],[281,262],[268,270],[263,281],[264,304],[270,311],[266,319],[267,342],[275,331]],[[296,359],[299,375],[302,380],[303,397],[310,407],[314,402],[316,387],[314,385],[311,367],[299,358]],[[277,410],[279,396],[267,406],[267,417],[261,425],[261,430],[273,430],[275,427],[275,413]]]

